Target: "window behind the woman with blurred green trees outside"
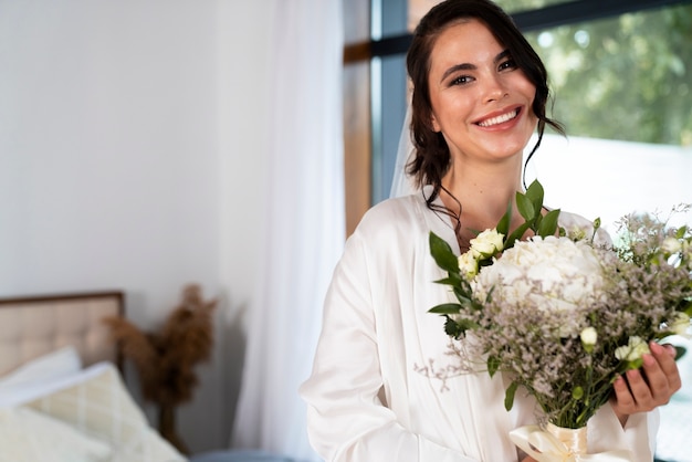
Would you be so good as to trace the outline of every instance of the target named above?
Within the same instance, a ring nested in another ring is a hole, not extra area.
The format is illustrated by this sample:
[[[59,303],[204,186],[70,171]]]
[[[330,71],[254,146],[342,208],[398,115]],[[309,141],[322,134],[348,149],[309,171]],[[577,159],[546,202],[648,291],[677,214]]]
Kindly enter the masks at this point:
[[[360,59],[352,55],[349,61],[348,51],[353,48],[347,46],[346,67],[367,63],[367,77],[371,80],[366,105],[371,117],[368,120],[371,154],[367,181],[369,200],[365,207],[389,196],[406,111],[405,53],[410,30],[438,2],[409,0],[407,7],[403,1],[374,1],[371,29],[377,40],[370,41]],[[583,167],[579,177],[570,176],[575,179],[568,182],[569,188],[565,181],[557,181],[553,187],[555,203],[567,208],[578,202],[581,208],[570,210],[590,216],[589,203],[600,208],[604,202],[641,207],[672,206],[673,200],[692,202],[692,188],[685,189],[686,180],[682,178],[682,172],[692,167],[689,164],[692,157],[692,113],[689,111],[692,107],[692,49],[689,46],[692,43],[692,2],[604,0],[598,8],[594,8],[590,0],[500,0],[499,3],[513,14],[546,63],[555,95],[552,115],[566,125],[569,135],[569,143],[559,137],[551,140],[549,146],[546,143],[536,156],[536,165],[530,168],[545,185],[551,178],[565,177],[565,166],[572,171],[577,171],[573,164]],[[669,6],[661,7],[662,3]],[[589,143],[581,147],[581,141],[594,138],[621,143],[598,144],[598,147]],[[643,154],[644,147],[649,154]],[[606,149],[604,156],[594,154],[601,148]],[[616,148],[621,154],[616,154]],[[583,156],[580,149],[588,149],[591,156]],[[553,156],[549,150],[559,154]],[[638,165],[632,165],[635,159]],[[659,179],[648,175],[651,166],[658,167]],[[599,171],[604,169],[608,169],[607,178],[595,180],[605,174]],[[626,187],[614,181],[617,179],[627,179]],[[594,181],[605,182],[609,188],[591,188],[593,199],[587,201],[581,195],[574,197],[573,191]],[[671,183],[682,190],[670,188]],[[548,190],[546,185],[548,193],[553,189]],[[628,199],[632,190],[639,195],[638,199]],[[668,196],[659,197],[658,202],[649,200],[661,196],[661,190]],[[604,201],[604,196],[612,200]],[[352,197],[350,191],[347,197]],[[585,206],[585,202],[589,203]],[[608,217],[604,220],[615,219],[619,211],[606,211]],[[358,219],[356,211],[348,220],[350,229]]]

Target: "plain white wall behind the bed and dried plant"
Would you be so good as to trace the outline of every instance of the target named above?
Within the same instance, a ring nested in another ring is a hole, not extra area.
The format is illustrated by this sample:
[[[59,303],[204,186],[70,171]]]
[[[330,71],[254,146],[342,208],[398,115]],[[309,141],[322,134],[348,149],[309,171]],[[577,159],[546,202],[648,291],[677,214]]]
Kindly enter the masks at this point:
[[[118,288],[155,328],[201,283],[221,304],[213,359],[178,414],[193,451],[228,443],[240,384],[264,7],[0,0],[0,296]]]

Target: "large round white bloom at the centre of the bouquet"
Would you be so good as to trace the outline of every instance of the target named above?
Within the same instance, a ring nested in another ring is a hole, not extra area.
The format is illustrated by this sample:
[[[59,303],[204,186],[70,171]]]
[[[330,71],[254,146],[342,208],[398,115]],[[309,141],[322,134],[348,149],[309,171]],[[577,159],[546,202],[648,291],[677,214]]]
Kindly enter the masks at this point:
[[[514,308],[570,313],[588,308],[600,296],[601,271],[599,254],[588,242],[536,237],[516,242],[484,266],[474,291],[482,300],[493,290],[493,298]],[[580,328],[576,316],[565,316],[559,334],[575,336]]]

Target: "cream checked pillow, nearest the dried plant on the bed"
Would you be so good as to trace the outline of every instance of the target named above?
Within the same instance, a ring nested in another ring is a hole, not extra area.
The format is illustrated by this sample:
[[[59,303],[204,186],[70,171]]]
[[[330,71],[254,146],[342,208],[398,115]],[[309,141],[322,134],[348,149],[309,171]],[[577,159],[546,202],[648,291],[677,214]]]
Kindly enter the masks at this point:
[[[115,366],[99,363],[82,378],[24,406],[106,442],[114,449],[113,462],[186,461],[149,427]]]

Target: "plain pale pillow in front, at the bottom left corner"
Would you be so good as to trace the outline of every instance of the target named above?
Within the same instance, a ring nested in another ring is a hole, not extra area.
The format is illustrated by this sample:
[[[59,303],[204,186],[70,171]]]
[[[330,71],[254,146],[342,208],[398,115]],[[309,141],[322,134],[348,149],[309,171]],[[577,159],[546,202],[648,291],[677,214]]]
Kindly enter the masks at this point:
[[[0,461],[106,462],[112,450],[76,429],[24,408],[0,409]]]

